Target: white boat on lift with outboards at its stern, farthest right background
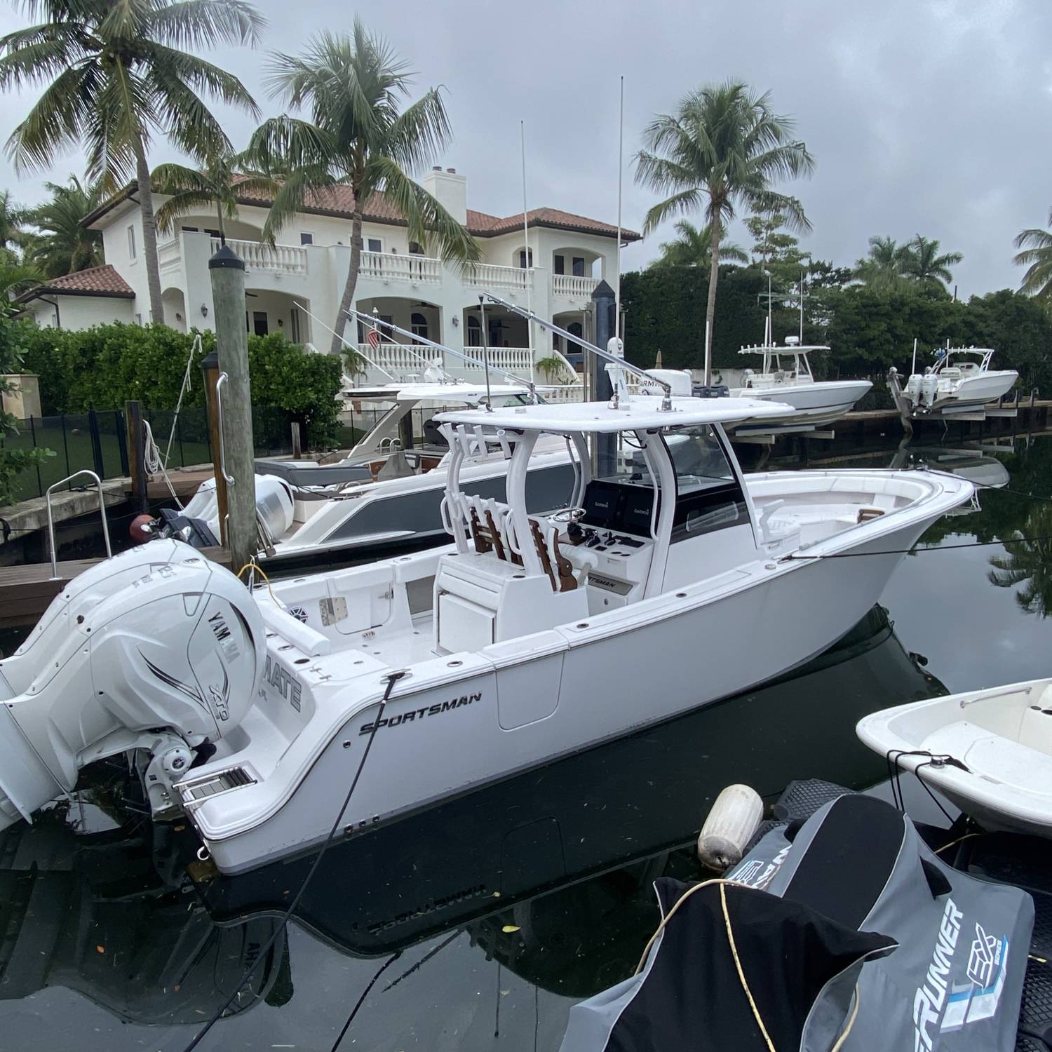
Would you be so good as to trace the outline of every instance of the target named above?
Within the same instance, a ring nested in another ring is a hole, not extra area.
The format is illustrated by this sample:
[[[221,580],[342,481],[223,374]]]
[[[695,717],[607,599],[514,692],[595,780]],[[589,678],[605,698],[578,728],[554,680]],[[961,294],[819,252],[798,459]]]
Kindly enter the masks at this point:
[[[993,350],[988,347],[945,347],[935,351],[935,364],[924,372],[912,372],[902,391],[914,417],[974,412],[996,402],[1014,386],[1015,369],[991,369]],[[916,353],[914,351],[914,359]],[[893,386],[897,375],[892,370]]]

